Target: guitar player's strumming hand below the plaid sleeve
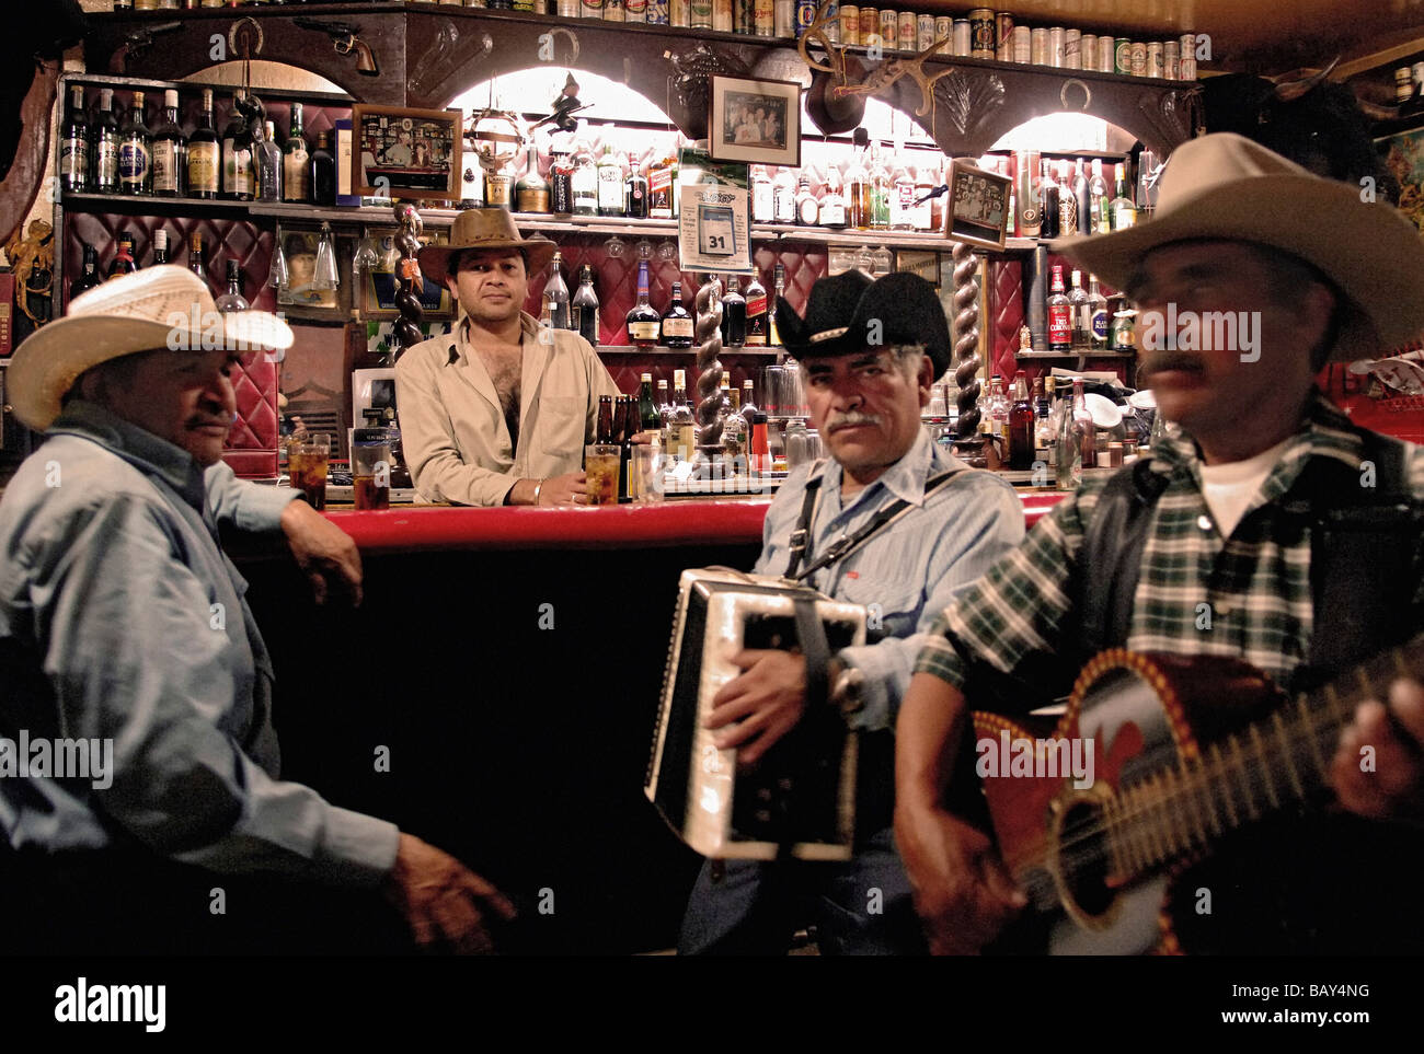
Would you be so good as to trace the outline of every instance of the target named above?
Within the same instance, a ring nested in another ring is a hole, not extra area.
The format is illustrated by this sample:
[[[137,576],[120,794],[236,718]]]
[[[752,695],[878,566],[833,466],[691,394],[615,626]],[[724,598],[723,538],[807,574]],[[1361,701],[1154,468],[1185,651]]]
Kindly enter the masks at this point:
[[[933,954],[978,954],[1028,903],[990,838],[944,809],[897,808],[894,835]]]

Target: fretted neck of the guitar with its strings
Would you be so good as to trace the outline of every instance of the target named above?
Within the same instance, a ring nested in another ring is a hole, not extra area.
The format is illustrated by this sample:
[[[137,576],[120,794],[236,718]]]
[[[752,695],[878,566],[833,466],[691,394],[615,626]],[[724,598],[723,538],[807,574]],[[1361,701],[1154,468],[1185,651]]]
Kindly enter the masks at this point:
[[[1424,634],[1303,694],[1265,721],[1153,772],[1105,807],[1115,872],[1135,878],[1292,805],[1317,799],[1340,730],[1396,677],[1424,670]]]

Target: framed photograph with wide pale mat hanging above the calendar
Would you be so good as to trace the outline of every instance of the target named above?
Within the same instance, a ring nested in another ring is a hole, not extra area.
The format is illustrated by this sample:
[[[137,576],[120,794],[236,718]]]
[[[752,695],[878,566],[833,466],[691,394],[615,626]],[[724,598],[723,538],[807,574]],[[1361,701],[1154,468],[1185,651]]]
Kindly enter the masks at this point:
[[[713,77],[708,119],[712,158],[800,165],[800,92],[796,81]]]

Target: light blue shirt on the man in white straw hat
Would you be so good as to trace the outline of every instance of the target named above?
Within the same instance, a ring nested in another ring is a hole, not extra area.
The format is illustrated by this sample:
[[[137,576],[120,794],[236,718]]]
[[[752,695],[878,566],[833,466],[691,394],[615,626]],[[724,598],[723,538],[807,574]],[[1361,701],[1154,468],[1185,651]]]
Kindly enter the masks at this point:
[[[111,738],[112,784],[0,778],[13,846],[137,839],[343,886],[390,871],[394,825],[278,779],[272,663],[216,529],[276,531],[293,496],[66,407],[0,501],[0,734]]]

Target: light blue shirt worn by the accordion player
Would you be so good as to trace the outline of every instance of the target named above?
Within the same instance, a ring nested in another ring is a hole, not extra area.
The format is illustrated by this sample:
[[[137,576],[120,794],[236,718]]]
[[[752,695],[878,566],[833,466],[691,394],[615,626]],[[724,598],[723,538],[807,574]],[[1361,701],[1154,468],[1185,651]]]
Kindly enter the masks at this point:
[[[823,568],[807,582],[826,596],[871,609],[884,640],[842,649],[839,659],[864,676],[860,713],[852,721],[867,731],[893,728],[900,700],[910,687],[918,634],[971,582],[1024,538],[1024,506],[1014,488],[993,472],[960,472],[928,498],[931,477],[964,464],[936,447],[920,430],[910,451],[870,486],[843,505],[842,468],[833,459],[800,467],[782,485],[766,511],[758,575],[783,575],[790,559],[790,536],[800,518],[812,472],[823,478],[820,504],[812,522],[807,568],[843,535],[854,533],[897,498],[914,508],[843,560]],[[876,605],[871,607],[871,605]],[[874,636],[871,632],[870,636]]]

